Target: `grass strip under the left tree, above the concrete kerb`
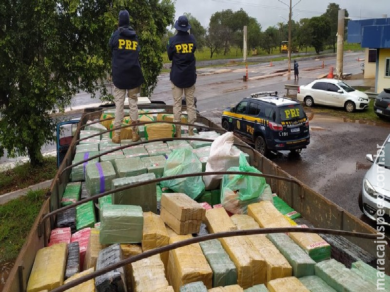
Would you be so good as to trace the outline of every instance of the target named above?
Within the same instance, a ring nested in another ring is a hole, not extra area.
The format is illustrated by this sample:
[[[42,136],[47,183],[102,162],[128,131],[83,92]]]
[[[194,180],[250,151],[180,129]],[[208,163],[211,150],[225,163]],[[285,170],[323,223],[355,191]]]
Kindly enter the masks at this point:
[[[34,168],[27,162],[2,171],[0,172],[0,195],[50,180],[56,171],[56,157],[44,157],[43,165],[39,168]]]

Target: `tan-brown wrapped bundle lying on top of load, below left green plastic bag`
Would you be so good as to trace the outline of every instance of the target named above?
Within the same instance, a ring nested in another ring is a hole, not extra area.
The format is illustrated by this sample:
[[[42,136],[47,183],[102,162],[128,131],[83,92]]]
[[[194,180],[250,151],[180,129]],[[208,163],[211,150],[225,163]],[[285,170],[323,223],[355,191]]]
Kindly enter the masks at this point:
[[[162,194],[161,207],[164,207],[180,221],[204,220],[206,209],[198,202],[182,193]]]

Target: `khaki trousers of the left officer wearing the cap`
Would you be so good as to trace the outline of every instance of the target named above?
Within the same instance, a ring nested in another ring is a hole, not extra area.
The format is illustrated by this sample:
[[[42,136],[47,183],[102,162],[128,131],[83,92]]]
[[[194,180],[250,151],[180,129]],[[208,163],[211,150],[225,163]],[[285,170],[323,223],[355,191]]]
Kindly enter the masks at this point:
[[[115,128],[120,127],[122,125],[123,116],[124,116],[123,107],[126,98],[126,91],[127,91],[127,97],[129,98],[130,119],[132,120],[132,122],[137,122],[138,120],[137,94],[140,91],[140,86],[128,90],[114,87],[114,99],[116,105],[115,119],[114,119]],[[133,131],[137,131],[137,127],[133,127]],[[115,130],[115,132],[120,133],[120,129]]]

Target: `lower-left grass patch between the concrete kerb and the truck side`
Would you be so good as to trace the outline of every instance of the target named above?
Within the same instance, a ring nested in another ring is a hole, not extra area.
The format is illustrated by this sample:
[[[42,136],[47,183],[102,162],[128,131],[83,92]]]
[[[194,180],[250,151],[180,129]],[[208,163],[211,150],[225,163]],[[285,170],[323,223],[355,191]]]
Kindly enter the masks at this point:
[[[0,205],[0,265],[18,256],[45,193],[46,190],[30,191],[24,197]]]

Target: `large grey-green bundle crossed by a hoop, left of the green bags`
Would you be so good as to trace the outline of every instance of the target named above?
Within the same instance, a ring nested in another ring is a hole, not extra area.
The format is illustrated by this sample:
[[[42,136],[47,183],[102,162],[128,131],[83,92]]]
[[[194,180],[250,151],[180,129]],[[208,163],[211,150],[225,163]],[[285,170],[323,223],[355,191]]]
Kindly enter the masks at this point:
[[[154,173],[145,173],[134,177],[119,178],[112,182],[112,189],[121,186],[147,182],[156,179]],[[112,194],[113,204],[141,206],[144,212],[157,212],[156,183],[129,188]]]

